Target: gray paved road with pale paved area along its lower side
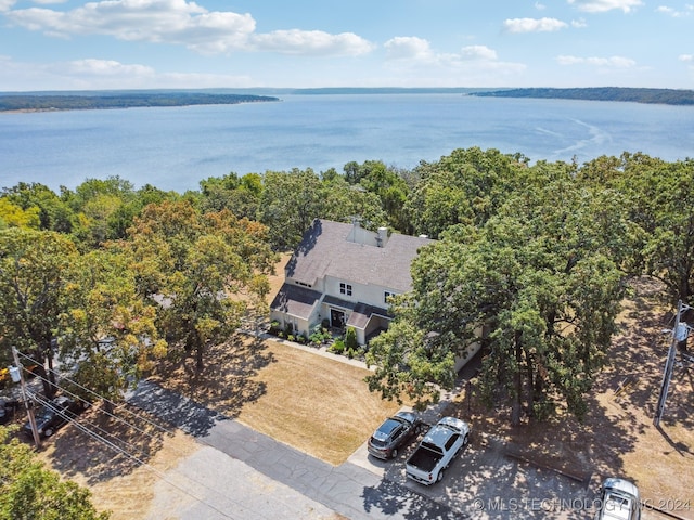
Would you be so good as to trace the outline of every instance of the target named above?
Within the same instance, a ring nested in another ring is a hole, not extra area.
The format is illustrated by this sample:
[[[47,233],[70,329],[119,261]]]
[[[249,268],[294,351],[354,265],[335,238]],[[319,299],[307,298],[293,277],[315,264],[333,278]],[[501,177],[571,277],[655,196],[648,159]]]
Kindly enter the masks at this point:
[[[177,505],[176,518],[181,520],[330,518],[330,511],[354,520],[466,518],[349,461],[331,466],[151,381],[142,381],[128,401],[195,435],[205,446],[177,468],[177,474],[188,471],[203,482],[194,493],[201,500],[184,495]],[[201,461],[202,471],[194,468]],[[180,485],[190,489],[190,478]],[[170,509],[170,503],[154,505],[164,506]]]

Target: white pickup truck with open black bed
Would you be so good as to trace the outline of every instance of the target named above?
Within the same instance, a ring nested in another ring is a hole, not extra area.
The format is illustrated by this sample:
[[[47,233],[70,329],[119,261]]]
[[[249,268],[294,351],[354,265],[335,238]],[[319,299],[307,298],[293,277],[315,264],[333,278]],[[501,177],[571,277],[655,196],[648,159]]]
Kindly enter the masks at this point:
[[[406,474],[424,485],[444,478],[448,468],[470,440],[470,426],[457,417],[444,417],[429,431],[404,463]]]

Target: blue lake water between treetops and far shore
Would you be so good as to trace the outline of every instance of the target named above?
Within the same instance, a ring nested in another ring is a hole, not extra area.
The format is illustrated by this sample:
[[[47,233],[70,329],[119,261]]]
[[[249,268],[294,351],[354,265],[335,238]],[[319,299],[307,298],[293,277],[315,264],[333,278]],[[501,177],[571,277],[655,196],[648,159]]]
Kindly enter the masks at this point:
[[[412,168],[459,147],[537,160],[643,152],[694,157],[694,107],[460,94],[284,95],[278,103],[0,114],[0,187],[74,190],[120,176],[183,193],[229,172],[383,160]]]

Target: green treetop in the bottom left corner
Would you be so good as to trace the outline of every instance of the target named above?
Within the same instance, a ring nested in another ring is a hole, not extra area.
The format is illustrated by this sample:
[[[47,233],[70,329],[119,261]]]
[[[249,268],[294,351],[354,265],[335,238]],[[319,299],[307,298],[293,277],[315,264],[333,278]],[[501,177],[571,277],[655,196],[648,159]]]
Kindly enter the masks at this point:
[[[48,469],[31,448],[10,438],[0,426],[0,518],[107,520],[98,512],[89,490],[64,481]]]

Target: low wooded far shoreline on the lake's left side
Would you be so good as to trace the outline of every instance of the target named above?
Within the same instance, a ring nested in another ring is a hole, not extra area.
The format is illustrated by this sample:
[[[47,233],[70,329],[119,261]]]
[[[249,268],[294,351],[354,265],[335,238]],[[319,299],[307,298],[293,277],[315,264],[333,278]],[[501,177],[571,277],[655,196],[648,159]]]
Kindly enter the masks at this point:
[[[77,94],[3,94],[0,112],[80,110],[95,108],[134,108],[147,106],[231,105],[280,101],[278,98],[249,94],[209,94],[198,92],[142,92]]]

